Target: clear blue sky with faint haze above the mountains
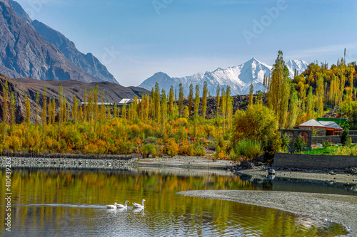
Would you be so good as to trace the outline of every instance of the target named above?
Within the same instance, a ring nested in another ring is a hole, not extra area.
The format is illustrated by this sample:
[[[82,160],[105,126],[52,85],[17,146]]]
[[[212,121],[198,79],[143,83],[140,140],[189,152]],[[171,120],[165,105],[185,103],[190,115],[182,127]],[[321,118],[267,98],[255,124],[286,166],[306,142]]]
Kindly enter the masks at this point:
[[[32,19],[93,53],[121,85],[162,71],[171,77],[255,57],[357,60],[357,1],[19,0]],[[269,14],[270,12],[270,14]]]

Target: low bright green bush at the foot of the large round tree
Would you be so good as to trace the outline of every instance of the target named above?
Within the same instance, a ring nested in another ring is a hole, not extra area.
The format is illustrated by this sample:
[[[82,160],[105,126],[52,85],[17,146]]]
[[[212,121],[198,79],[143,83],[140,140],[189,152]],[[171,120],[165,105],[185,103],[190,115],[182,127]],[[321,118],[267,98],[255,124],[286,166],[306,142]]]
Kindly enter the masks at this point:
[[[236,144],[234,152],[232,154],[235,157],[233,159],[243,158],[245,160],[252,160],[263,154],[263,147],[261,142],[253,139],[242,139],[241,142]]]

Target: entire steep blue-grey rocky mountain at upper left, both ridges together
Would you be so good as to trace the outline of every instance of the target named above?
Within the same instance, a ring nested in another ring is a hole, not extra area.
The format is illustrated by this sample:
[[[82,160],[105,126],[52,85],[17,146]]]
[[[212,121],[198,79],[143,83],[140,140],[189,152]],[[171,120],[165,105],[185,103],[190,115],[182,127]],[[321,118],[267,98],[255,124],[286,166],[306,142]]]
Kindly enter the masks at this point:
[[[0,0],[0,72],[14,78],[111,81],[106,67],[58,31],[32,21],[16,1]]]

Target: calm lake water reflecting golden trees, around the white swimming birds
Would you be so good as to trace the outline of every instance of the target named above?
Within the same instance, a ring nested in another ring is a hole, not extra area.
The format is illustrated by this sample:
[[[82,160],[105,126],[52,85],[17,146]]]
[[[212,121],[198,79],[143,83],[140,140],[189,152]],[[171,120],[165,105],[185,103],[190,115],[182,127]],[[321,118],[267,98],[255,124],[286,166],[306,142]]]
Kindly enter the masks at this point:
[[[4,172],[0,183],[5,183]],[[266,186],[266,185],[265,185]],[[190,189],[271,189],[223,174],[14,169],[12,232],[5,236],[338,236],[337,223],[231,201],[176,195]],[[1,185],[1,194],[4,187]],[[114,201],[144,211],[106,209]],[[5,200],[0,200],[0,216]],[[131,206],[129,204],[129,206]]]

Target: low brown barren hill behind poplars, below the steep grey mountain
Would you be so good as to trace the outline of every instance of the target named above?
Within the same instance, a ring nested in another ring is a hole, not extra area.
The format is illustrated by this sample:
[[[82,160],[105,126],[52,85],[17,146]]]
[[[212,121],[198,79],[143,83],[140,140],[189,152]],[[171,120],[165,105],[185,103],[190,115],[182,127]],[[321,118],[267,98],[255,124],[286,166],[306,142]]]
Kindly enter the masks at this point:
[[[89,90],[93,90],[96,84],[99,85],[99,91],[104,91],[104,100],[109,102],[118,103],[123,98],[134,99],[135,95],[138,95],[141,98],[141,95],[144,93],[149,93],[149,90],[144,88],[135,88],[135,87],[124,87],[117,83],[109,82],[99,82],[99,83],[84,83],[76,80],[36,80],[31,78],[9,78],[8,76],[0,73],[0,122],[2,122],[2,108],[3,103],[2,95],[4,90],[4,82],[8,81],[9,93],[14,92],[16,97],[16,122],[22,122],[24,118],[24,97],[27,95],[31,103],[31,115],[34,115],[36,94],[39,93],[40,96],[40,105],[42,105],[42,98],[44,95],[44,87],[47,89],[47,96],[49,98],[54,98],[56,104],[58,105],[58,93],[59,87],[63,86],[63,93],[66,101],[69,102],[69,105],[72,105],[74,94],[76,98],[83,101],[84,100],[84,88],[86,88],[87,93]]]

